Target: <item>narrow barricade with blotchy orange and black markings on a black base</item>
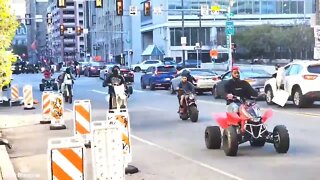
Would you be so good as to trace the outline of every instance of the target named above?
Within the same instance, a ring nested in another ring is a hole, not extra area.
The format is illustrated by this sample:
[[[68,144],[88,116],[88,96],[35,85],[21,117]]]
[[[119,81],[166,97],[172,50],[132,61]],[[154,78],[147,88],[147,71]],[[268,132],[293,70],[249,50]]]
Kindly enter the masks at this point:
[[[64,103],[61,93],[52,92],[50,97],[50,130],[66,129],[66,125],[63,119],[64,115]]]

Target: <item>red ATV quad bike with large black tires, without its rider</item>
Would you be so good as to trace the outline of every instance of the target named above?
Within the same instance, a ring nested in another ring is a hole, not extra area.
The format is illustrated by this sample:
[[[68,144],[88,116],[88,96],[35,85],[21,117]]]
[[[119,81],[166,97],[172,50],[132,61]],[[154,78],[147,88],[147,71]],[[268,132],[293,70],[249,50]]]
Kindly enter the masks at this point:
[[[221,135],[219,126],[208,126],[205,130],[205,143],[208,149],[220,149],[222,147],[227,156],[236,156],[239,144],[250,142],[251,146],[264,146],[272,143],[278,153],[287,153],[290,138],[284,125],[277,125],[273,132],[266,128],[266,121],[272,116],[272,110],[268,109],[261,114],[255,101],[243,102],[239,97],[234,102],[240,104],[239,112],[227,112],[214,114],[214,119],[223,129]]]

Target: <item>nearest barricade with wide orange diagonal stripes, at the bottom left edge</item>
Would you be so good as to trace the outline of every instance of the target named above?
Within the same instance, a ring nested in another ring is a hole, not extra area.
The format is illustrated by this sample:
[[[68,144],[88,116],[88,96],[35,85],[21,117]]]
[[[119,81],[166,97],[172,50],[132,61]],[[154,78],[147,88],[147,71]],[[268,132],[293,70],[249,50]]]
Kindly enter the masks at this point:
[[[81,141],[76,137],[49,139],[48,179],[85,179],[85,152]]]

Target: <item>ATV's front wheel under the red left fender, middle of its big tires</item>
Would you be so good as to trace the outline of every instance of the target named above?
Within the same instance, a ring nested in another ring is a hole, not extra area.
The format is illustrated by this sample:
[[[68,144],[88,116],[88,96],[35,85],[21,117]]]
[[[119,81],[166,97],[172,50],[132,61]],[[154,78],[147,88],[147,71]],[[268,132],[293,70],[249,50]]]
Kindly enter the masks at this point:
[[[227,156],[236,156],[238,152],[238,135],[236,127],[229,126],[223,130],[223,150]]]

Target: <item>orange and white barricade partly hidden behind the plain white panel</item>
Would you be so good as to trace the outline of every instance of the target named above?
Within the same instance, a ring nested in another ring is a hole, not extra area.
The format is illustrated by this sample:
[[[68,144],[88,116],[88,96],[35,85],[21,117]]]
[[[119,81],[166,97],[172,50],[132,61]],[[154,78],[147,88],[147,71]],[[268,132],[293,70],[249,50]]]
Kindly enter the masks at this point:
[[[131,137],[130,137],[130,120],[127,109],[109,110],[107,114],[107,122],[115,121],[121,131],[122,147],[125,165],[132,161]]]

